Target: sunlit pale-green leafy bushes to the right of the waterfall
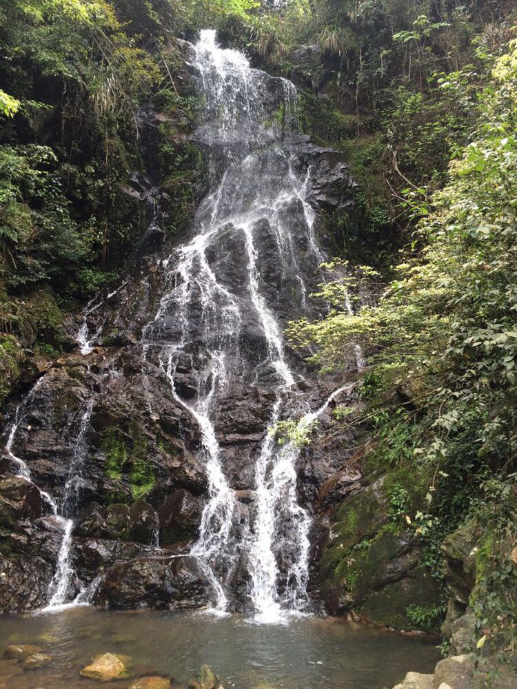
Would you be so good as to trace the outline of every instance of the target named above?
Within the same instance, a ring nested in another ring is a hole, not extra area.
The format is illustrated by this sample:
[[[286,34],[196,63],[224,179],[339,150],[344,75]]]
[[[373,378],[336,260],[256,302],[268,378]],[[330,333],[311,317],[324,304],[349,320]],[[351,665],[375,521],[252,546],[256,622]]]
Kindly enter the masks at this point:
[[[338,278],[318,293],[332,305],[329,315],[292,324],[289,333],[294,344],[316,345],[312,359],[325,370],[345,366],[349,351],[361,347],[369,362],[361,391],[367,401],[363,423],[373,433],[369,455],[424,483],[418,503],[408,501],[406,484],[392,486],[389,518],[407,517],[426,546],[425,563],[439,575],[443,538],[467,517],[477,517],[485,528],[472,601],[478,638],[483,633],[494,648],[511,652],[517,574],[511,555],[517,526],[516,43],[507,50],[488,59],[493,76],[478,96],[483,117],[472,125],[469,143],[452,152],[445,186],[416,211],[412,243],[381,300],[350,313],[343,294],[354,281]],[[420,99],[411,107],[420,107]]]

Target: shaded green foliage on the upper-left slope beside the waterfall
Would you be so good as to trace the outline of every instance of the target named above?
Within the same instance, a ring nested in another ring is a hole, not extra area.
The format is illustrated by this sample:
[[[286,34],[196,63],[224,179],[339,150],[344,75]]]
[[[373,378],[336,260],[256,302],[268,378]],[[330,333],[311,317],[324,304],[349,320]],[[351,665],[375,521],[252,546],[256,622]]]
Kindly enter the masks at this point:
[[[3,4],[2,289],[45,281],[90,296],[134,243],[115,200],[138,156],[134,112],[162,75],[117,11],[108,0]]]

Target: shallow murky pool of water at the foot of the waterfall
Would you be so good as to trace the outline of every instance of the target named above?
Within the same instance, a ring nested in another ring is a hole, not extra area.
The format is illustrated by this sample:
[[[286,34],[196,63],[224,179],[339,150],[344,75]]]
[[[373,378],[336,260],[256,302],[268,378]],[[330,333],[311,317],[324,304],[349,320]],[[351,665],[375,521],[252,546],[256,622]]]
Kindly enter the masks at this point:
[[[45,648],[52,664],[23,671],[0,659],[2,689],[100,687],[79,670],[103,652],[129,655],[134,677],[166,675],[174,688],[207,664],[225,689],[381,689],[408,670],[430,672],[439,659],[434,641],[342,620],[305,617],[288,626],[259,626],[236,615],[89,607],[0,616],[0,655],[7,644],[22,643]]]

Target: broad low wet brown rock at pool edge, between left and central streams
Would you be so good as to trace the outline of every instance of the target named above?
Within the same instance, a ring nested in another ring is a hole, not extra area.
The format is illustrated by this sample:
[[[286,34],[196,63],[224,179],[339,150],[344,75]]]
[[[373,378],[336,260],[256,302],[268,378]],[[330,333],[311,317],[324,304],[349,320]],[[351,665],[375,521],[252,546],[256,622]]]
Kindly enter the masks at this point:
[[[191,557],[148,557],[114,565],[105,573],[95,602],[106,608],[200,608],[207,584]]]

